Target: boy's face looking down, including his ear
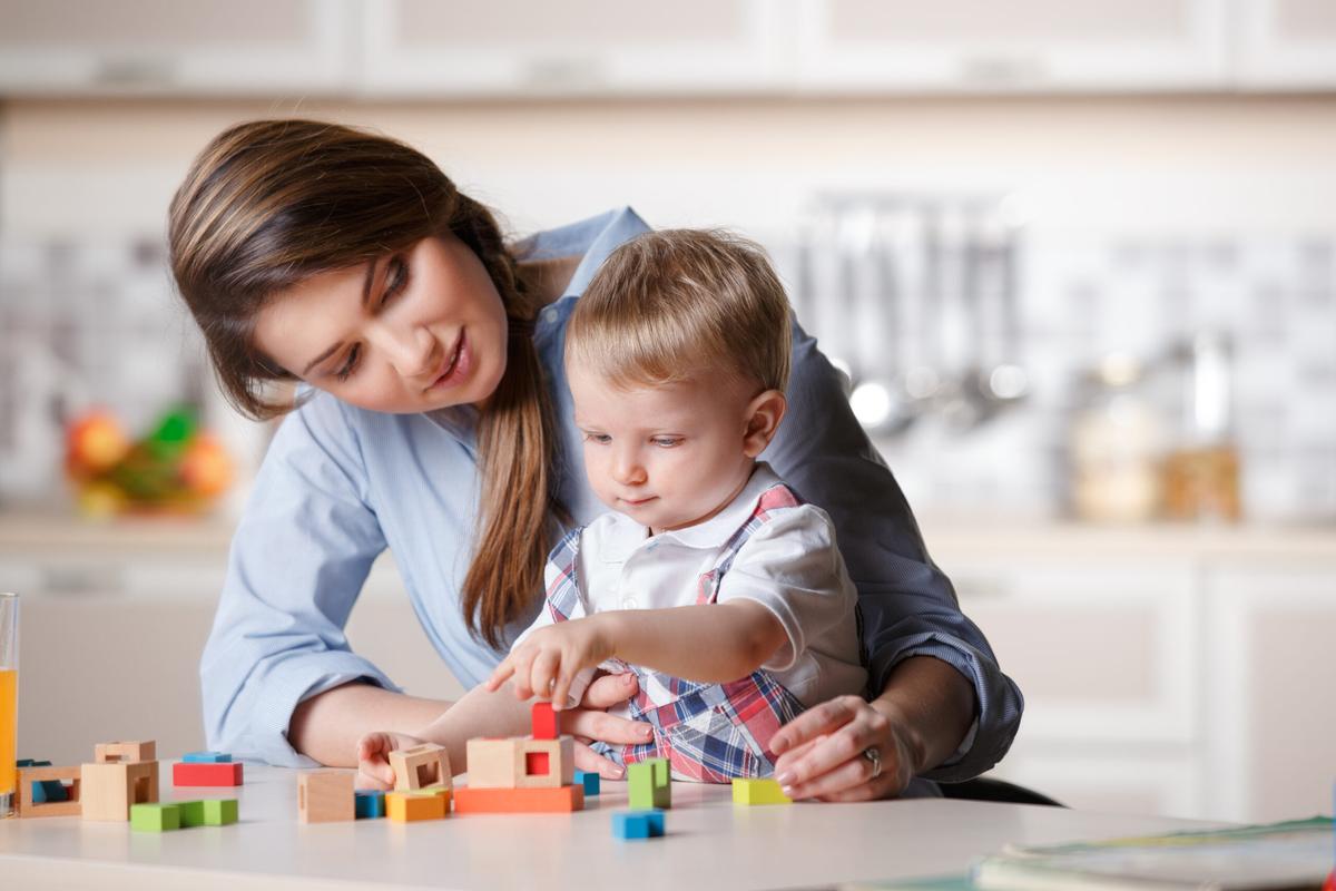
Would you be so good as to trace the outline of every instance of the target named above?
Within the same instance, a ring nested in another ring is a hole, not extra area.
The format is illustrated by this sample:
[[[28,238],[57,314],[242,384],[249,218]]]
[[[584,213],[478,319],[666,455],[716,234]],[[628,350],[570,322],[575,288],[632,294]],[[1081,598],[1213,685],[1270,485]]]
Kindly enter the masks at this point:
[[[655,534],[727,505],[783,415],[782,394],[731,378],[633,389],[576,367],[568,378],[589,485]]]

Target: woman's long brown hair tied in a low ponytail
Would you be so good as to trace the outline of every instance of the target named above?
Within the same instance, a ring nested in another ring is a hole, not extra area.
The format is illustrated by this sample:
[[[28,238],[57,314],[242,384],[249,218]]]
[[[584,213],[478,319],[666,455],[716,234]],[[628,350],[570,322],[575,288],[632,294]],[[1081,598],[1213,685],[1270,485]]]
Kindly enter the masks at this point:
[[[295,379],[255,343],[267,301],[446,232],[482,260],[509,322],[506,370],[478,421],[482,528],[460,597],[469,627],[498,647],[542,590],[560,508],[552,410],[532,341],[540,307],[492,212],[403,143],[323,122],[257,120],[204,147],[168,218],[176,287],[223,393],[255,419],[294,407],[267,397],[273,382]]]

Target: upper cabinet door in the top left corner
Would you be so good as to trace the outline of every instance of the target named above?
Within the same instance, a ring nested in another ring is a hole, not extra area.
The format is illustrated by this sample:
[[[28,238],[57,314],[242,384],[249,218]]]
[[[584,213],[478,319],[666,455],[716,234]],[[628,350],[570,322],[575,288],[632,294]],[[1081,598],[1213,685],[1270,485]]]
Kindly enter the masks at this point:
[[[0,90],[281,95],[345,88],[350,0],[0,0]]]

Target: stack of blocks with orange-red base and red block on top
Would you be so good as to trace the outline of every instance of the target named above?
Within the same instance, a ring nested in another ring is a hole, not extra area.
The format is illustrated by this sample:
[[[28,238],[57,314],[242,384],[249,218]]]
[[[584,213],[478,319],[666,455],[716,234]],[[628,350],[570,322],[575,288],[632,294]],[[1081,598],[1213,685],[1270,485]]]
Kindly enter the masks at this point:
[[[472,739],[469,785],[456,789],[457,814],[580,811],[585,785],[574,784],[574,739],[557,733],[550,703],[533,707],[533,735]]]

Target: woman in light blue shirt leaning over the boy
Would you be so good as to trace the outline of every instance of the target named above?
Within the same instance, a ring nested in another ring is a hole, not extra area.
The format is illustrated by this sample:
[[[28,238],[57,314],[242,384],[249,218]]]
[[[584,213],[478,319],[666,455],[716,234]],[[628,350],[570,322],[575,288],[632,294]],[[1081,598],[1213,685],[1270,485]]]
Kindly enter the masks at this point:
[[[645,230],[628,208],[508,246],[429,159],[334,124],[253,122],[204,148],[171,206],[178,289],[238,409],[287,413],[267,387],[301,385],[238,525],[200,665],[211,747],[351,765],[363,732],[411,733],[448,707],[403,696],[343,637],[385,548],[454,675],[488,676],[542,600],[561,526],[599,513],[569,464],[562,331],[601,259]],[[1019,691],[796,326],[788,397],[763,457],[835,520],[874,699],[790,723],[776,776],[827,800],[975,776],[1010,745]],[[600,711],[633,692],[601,679],[564,729],[644,741],[648,728]],[[577,763],[619,775],[585,747]]]

